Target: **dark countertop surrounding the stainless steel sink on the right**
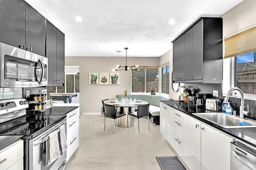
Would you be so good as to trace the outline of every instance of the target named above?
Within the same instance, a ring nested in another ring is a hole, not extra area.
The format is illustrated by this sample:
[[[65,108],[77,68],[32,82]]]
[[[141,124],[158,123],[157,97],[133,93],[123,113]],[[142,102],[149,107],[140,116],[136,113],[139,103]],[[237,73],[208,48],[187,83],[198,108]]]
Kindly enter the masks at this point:
[[[178,109],[183,113],[186,113],[187,115],[190,115],[191,117],[194,117],[195,119],[198,119],[232,137],[235,137],[241,141],[244,141],[245,143],[248,143],[253,147],[256,147],[256,128],[235,128],[235,129],[223,128],[212,122],[209,122],[205,119],[201,119],[200,117],[192,114],[192,113],[207,113],[207,112],[216,112],[216,111],[199,109],[195,106],[188,105],[184,102],[179,102],[178,100],[161,100],[161,102],[163,102],[164,104],[167,104],[168,106],[174,107],[175,109]]]

